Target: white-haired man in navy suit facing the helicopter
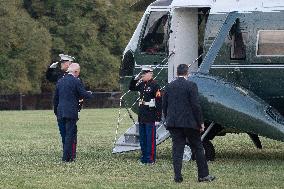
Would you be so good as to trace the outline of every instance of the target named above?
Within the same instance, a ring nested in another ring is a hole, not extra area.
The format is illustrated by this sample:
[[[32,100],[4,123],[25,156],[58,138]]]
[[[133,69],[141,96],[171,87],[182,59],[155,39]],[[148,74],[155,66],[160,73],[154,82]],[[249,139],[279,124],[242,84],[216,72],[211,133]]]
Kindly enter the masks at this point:
[[[76,158],[76,141],[78,121],[78,101],[82,98],[92,98],[93,94],[86,91],[82,82],[78,79],[80,66],[72,63],[69,73],[59,79],[54,95],[54,113],[60,122],[65,125],[66,135],[63,144],[62,161],[70,162]]]

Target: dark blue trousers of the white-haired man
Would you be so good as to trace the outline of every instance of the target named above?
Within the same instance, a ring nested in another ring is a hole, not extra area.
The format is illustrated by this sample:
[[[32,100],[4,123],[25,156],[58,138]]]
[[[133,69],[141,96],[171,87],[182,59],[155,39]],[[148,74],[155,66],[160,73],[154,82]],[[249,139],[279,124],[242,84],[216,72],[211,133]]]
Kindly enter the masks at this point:
[[[63,118],[63,122],[65,123],[66,136],[63,145],[62,161],[74,161],[76,158],[77,146],[77,120]]]

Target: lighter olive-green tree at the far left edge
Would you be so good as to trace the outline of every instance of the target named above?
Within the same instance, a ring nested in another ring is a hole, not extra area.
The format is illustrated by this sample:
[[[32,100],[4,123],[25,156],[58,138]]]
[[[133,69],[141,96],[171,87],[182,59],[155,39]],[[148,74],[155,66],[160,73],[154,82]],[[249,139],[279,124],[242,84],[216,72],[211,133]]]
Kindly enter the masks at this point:
[[[50,62],[51,37],[20,0],[0,0],[0,91],[39,93]]]

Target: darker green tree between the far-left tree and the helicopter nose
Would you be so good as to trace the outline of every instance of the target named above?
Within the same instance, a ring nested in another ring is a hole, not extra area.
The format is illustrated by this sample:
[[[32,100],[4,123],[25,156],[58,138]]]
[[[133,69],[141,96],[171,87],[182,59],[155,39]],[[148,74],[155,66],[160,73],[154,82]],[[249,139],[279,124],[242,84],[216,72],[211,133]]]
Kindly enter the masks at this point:
[[[131,2],[25,0],[25,6],[52,35],[53,60],[59,53],[73,55],[89,88],[118,90],[121,54],[136,26],[137,17],[129,16]]]

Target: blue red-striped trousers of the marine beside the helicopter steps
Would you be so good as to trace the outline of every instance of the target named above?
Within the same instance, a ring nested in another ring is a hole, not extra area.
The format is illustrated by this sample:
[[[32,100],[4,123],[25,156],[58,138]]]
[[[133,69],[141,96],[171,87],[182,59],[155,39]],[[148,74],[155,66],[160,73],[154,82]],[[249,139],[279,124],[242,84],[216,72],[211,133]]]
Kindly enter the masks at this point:
[[[141,162],[156,161],[156,126],[155,123],[139,123],[139,141],[141,147]]]

